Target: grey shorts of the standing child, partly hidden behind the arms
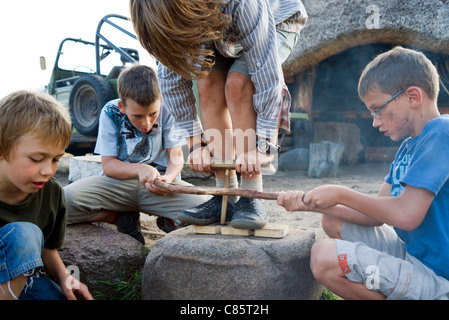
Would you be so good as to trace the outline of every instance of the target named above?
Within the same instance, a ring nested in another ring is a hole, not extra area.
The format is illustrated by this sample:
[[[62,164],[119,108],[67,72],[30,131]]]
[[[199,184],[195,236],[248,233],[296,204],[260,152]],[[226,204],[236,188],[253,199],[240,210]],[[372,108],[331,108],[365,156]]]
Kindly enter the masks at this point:
[[[288,56],[292,53],[293,48],[298,43],[299,33],[288,32],[276,29],[277,45],[279,60],[284,63]],[[225,74],[237,71],[249,77],[248,62],[246,56],[241,55],[240,58],[225,58],[217,50],[215,50],[215,64],[212,70],[218,70]]]

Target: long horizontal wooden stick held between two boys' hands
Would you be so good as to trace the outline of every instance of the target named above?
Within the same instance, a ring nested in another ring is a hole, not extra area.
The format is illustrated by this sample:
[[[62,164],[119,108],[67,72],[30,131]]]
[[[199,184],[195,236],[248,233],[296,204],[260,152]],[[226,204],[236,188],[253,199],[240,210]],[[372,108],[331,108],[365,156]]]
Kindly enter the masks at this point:
[[[183,186],[180,184],[167,183],[162,180],[154,180],[159,188],[176,193],[212,195],[212,196],[241,196],[246,198],[258,198],[265,200],[277,200],[279,192],[261,192],[253,189],[233,189],[217,187]]]

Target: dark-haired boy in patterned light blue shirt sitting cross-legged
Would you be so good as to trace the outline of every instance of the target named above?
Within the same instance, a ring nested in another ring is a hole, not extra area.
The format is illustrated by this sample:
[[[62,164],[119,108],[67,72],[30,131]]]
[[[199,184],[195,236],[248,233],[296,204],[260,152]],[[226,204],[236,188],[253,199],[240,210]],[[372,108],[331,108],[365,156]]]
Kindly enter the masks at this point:
[[[181,225],[181,209],[208,197],[169,193],[154,184],[160,179],[188,185],[180,179],[184,142],[173,136],[173,119],[161,108],[154,70],[143,65],[123,70],[118,93],[100,114],[95,153],[101,155],[103,175],[64,188],[68,223],[109,222],[143,244],[140,212],[157,215],[158,226],[170,232]]]

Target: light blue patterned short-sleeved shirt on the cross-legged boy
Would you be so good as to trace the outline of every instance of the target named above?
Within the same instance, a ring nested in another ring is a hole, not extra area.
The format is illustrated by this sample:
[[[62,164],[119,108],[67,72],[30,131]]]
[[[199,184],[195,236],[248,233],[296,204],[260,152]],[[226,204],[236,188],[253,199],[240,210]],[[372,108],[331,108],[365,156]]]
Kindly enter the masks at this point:
[[[161,108],[150,132],[138,130],[128,116],[120,112],[119,99],[108,102],[100,114],[95,153],[117,157],[128,163],[146,163],[158,170],[168,165],[167,149],[185,144],[173,135],[173,118]]]

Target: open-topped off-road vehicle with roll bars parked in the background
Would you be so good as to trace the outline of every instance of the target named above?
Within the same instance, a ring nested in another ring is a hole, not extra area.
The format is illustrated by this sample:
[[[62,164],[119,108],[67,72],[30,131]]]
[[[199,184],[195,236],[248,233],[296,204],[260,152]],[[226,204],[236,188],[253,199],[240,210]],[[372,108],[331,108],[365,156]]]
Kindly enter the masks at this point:
[[[66,105],[76,130],[86,136],[96,136],[102,107],[117,95],[117,77],[127,63],[139,61],[138,49],[119,47],[102,33],[103,24],[131,37],[138,47],[136,35],[125,28],[129,18],[110,14],[98,24],[95,42],[66,38],[58,49],[48,93]],[[127,39],[127,40],[128,40]],[[100,43],[101,41],[101,43]]]

